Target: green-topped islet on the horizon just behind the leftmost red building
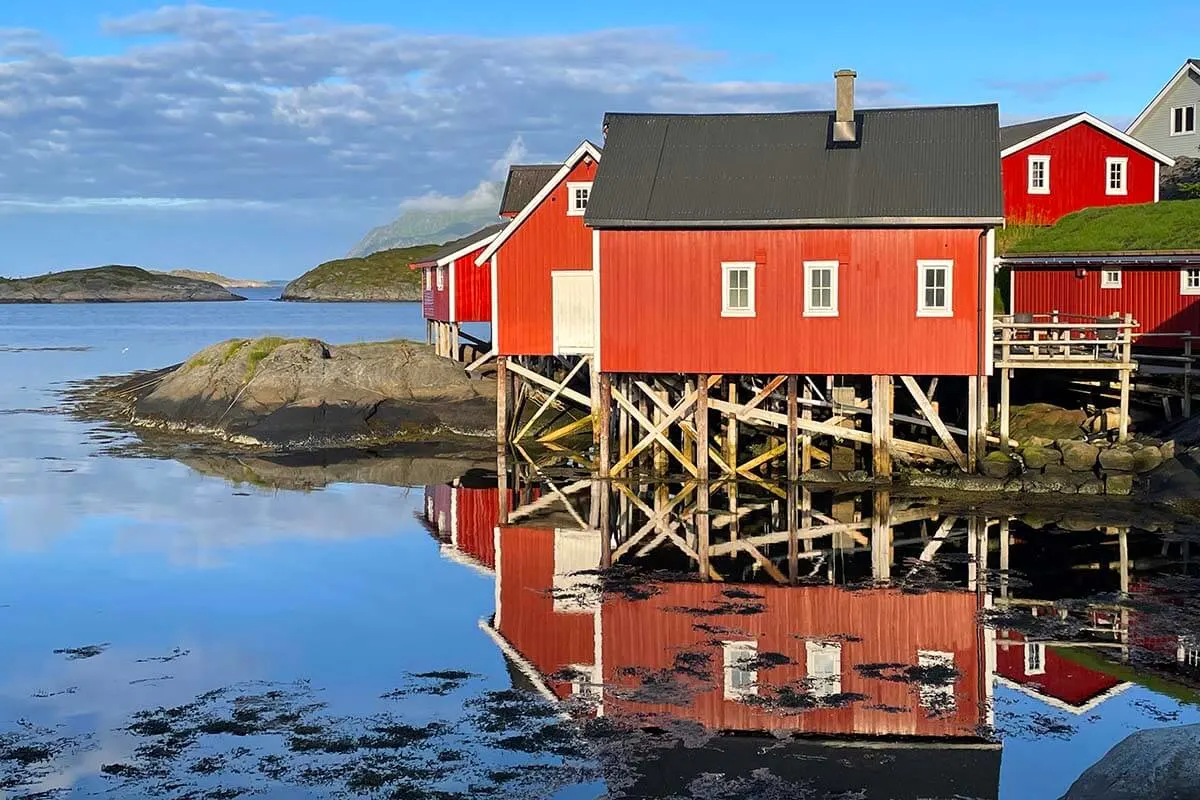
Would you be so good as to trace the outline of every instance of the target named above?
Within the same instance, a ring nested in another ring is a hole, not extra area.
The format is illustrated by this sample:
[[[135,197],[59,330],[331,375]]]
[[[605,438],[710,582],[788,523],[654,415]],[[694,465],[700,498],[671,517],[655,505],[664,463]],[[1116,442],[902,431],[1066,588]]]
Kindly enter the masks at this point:
[[[421,273],[408,269],[440,245],[398,247],[364,258],[341,258],[289,283],[282,300],[304,302],[413,302],[421,299]]]

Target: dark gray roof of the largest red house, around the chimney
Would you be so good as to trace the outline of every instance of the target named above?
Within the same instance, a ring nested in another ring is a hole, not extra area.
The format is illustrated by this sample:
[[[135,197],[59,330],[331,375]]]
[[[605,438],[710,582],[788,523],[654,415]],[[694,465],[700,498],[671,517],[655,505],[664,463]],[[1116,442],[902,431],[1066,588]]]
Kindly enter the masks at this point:
[[[592,227],[871,224],[1003,217],[1000,110],[860,110],[858,142],[832,112],[608,114]]]

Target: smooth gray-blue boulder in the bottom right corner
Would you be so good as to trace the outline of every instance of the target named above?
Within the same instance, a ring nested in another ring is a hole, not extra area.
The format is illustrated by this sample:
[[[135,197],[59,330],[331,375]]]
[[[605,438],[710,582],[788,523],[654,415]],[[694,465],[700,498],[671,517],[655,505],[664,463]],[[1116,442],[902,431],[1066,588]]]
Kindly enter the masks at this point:
[[[1062,800],[1182,800],[1200,787],[1200,724],[1139,730],[1070,784]]]

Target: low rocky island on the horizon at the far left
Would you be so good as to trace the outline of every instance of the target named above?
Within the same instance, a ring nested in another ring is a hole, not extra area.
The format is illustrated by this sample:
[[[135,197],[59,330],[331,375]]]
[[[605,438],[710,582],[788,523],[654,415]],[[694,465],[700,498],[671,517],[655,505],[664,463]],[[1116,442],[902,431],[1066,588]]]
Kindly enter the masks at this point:
[[[97,266],[34,278],[0,278],[0,302],[181,302],[245,300],[208,281],[149,272],[137,266]]]

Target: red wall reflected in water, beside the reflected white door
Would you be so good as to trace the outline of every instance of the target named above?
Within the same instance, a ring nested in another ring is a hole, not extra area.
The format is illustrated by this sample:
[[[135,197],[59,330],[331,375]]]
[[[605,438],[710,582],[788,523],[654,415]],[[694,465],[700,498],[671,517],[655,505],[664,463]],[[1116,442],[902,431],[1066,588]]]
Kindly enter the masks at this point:
[[[545,528],[500,528],[500,633],[542,675],[595,660],[593,614],[556,613],[554,531]],[[565,681],[546,681],[559,697],[571,693]]]

